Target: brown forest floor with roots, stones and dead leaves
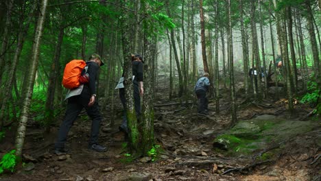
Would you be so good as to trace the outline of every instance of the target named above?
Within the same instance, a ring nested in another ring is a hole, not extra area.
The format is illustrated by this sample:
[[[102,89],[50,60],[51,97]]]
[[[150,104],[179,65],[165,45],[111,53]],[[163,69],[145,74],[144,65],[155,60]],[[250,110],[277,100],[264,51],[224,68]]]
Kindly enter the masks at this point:
[[[150,158],[132,160],[125,156],[121,123],[121,104],[117,101],[115,126],[110,128],[110,107],[103,111],[102,132],[99,141],[108,147],[104,153],[87,149],[91,120],[82,112],[69,132],[64,156],[53,154],[53,143],[58,130],[49,134],[29,121],[25,146],[24,166],[14,173],[5,173],[0,180],[320,180],[321,179],[321,124],[320,119],[307,117],[311,108],[296,104],[295,114],[290,115],[285,99],[261,102],[237,99],[238,123],[266,115],[285,120],[283,125],[311,127],[308,131],[292,131],[284,139],[271,139],[265,147],[253,149],[248,154],[230,154],[213,147],[220,134],[230,131],[230,104],[228,91],[222,88],[220,113],[215,114],[215,100],[210,99],[209,116],[196,114],[195,101],[188,106],[176,99],[164,99],[166,87],[156,88],[154,132],[156,144],[163,149],[156,161]],[[167,104],[167,106],[165,106]],[[63,117],[61,117],[63,119]],[[311,120],[313,119],[313,120]],[[61,122],[58,121],[58,122]],[[290,127],[289,127],[290,128]],[[0,145],[0,156],[14,148],[14,134],[8,132]],[[297,129],[297,128],[296,128]],[[278,133],[283,130],[278,130]],[[277,133],[277,134],[278,134]],[[278,135],[274,134],[276,138]],[[280,137],[280,136],[278,136]],[[250,143],[249,143],[250,144]],[[273,152],[268,158],[257,156]]]

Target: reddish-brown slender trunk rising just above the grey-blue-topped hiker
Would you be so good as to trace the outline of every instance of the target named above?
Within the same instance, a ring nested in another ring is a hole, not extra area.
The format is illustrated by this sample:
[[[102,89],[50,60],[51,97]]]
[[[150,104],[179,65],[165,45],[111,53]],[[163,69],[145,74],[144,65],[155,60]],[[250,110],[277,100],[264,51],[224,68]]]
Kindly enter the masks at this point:
[[[209,66],[207,64],[207,57],[206,57],[206,39],[205,39],[203,0],[200,0],[200,25],[201,25],[201,43],[202,43],[202,58],[203,58],[204,72],[209,73],[211,76],[212,73],[209,72]]]

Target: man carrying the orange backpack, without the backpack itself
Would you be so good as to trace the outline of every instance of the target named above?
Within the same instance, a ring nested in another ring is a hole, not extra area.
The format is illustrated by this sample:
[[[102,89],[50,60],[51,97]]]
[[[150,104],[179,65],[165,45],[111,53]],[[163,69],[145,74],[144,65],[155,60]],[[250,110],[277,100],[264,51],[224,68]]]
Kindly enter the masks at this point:
[[[78,88],[69,90],[66,99],[68,99],[67,109],[64,117],[64,121],[60,125],[58,131],[58,138],[55,143],[55,153],[57,155],[64,154],[67,149],[64,148],[64,143],[67,141],[67,135],[73,122],[77,119],[78,114],[82,111],[82,108],[86,109],[86,112],[93,122],[91,123],[91,137],[89,139],[88,149],[92,149],[96,152],[105,152],[106,147],[98,145],[98,134],[102,116],[99,112],[97,98],[96,98],[96,80],[99,67],[103,66],[102,58],[94,53],[86,62],[86,67],[82,73],[87,73],[89,82],[81,84]]]

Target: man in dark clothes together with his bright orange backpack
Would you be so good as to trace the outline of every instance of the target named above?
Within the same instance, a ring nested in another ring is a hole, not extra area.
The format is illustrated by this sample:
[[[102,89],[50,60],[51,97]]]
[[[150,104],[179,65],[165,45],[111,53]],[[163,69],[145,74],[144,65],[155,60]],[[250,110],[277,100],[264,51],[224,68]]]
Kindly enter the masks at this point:
[[[67,135],[73,122],[77,119],[78,114],[80,114],[83,108],[86,109],[88,116],[93,119],[88,149],[92,149],[96,152],[106,152],[106,147],[98,145],[97,143],[102,116],[96,101],[97,89],[95,84],[99,67],[103,66],[104,63],[102,62],[102,58],[94,53],[89,58],[89,61],[86,62],[83,69],[83,65],[81,64],[81,61],[73,60],[69,62],[64,69],[62,84],[64,87],[69,88],[69,92],[66,96],[68,104],[65,118],[60,125],[58,138],[55,143],[55,153],[57,155],[65,154],[67,152],[64,143],[67,141]],[[74,88],[75,84],[80,85]]]

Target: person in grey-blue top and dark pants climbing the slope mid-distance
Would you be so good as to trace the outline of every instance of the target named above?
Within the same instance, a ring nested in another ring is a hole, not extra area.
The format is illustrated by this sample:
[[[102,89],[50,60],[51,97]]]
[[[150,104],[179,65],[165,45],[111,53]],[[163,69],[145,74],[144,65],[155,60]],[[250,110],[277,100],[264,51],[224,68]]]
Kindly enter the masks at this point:
[[[206,92],[209,90],[209,73],[204,73],[203,77],[200,77],[198,82],[196,82],[194,91],[198,97],[198,113],[209,114],[208,104],[209,100],[206,98]]]

